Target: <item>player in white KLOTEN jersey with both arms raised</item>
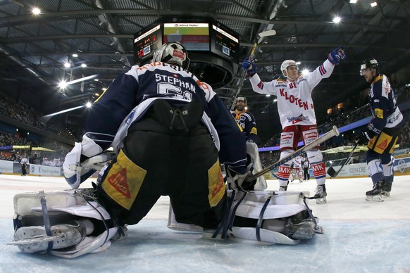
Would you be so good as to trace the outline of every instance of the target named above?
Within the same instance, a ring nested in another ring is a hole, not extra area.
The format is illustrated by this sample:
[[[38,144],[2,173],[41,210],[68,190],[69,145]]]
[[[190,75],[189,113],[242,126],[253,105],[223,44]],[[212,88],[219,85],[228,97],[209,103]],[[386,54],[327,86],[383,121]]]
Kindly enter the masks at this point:
[[[280,70],[285,79],[263,82],[256,73],[254,60],[246,58],[242,63],[242,68],[247,70],[247,75],[252,85],[252,89],[259,94],[272,94],[277,97],[278,112],[282,125],[280,135],[280,159],[296,151],[297,144],[302,138],[304,144],[318,138],[316,115],[313,107],[311,93],[313,88],[324,78],[330,77],[340,61],[346,58],[344,48],[338,47],[328,54],[326,61],[318,68],[306,75],[299,76],[299,68],[293,60],[286,60],[280,65]],[[324,203],[327,195],[325,189],[325,164],[321,147],[317,146],[306,152],[313,175],[316,178],[317,187],[315,197],[318,203]],[[286,163],[279,167],[278,179],[280,190],[287,190],[287,180],[290,175],[290,164]]]

